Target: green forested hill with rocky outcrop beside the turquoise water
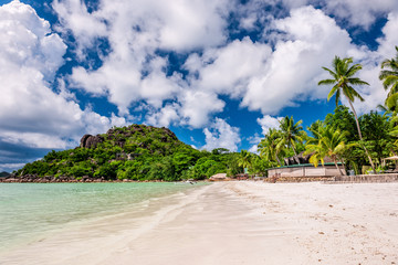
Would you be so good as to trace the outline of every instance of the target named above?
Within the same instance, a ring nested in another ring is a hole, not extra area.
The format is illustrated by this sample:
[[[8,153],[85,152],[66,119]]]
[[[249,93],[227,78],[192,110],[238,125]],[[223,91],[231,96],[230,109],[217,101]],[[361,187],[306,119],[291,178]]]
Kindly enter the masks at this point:
[[[80,147],[53,150],[41,160],[27,163],[14,176],[77,180],[205,179],[220,172],[240,172],[237,156],[226,149],[199,151],[178,140],[167,128],[130,125],[103,135],[85,135]]]

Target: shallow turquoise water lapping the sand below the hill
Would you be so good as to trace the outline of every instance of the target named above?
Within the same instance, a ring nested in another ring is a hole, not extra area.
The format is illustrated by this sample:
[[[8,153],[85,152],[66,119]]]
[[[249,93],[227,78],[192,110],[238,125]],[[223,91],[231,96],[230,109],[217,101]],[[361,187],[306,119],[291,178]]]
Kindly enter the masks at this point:
[[[197,184],[196,184],[197,186]],[[0,250],[28,243],[71,222],[132,211],[187,183],[0,183]]]

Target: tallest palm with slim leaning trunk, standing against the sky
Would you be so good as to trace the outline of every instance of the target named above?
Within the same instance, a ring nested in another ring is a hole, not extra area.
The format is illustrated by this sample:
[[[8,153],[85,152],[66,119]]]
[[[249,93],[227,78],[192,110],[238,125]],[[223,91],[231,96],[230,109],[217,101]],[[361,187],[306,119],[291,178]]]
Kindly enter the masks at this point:
[[[353,57],[341,59],[338,56],[335,56],[332,63],[333,71],[326,67],[322,67],[325,71],[327,71],[333,76],[333,78],[320,81],[318,85],[333,85],[329,94],[327,95],[327,100],[329,100],[333,97],[333,95],[336,95],[336,105],[338,105],[342,94],[347,98],[352,112],[354,113],[355,116],[355,121],[358,129],[360,142],[363,144],[364,139],[359,127],[358,116],[355,112],[353,103],[355,98],[359,98],[359,100],[362,102],[364,102],[365,99],[359,95],[357,91],[354,89],[353,85],[369,85],[369,84],[365,81],[362,81],[358,77],[354,77],[354,75],[359,70],[362,70],[362,65],[360,64],[350,65],[352,63],[353,63]],[[368,157],[371,169],[376,173],[375,165],[364,144],[363,144],[363,148]]]

